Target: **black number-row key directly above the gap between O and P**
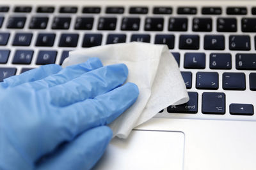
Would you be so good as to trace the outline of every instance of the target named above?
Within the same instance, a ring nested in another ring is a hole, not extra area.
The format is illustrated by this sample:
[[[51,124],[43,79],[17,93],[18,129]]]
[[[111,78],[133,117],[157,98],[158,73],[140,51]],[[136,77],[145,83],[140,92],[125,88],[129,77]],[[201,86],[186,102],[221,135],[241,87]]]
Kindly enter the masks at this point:
[[[193,18],[193,31],[212,31],[212,18]]]

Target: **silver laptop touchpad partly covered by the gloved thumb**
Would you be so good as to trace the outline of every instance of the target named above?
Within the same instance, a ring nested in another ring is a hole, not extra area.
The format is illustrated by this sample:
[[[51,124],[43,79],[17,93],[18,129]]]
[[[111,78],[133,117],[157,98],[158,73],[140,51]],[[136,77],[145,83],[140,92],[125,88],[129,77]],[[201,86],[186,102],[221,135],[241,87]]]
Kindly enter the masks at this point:
[[[182,132],[132,131],[113,139],[93,169],[182,169],[184,139]]]

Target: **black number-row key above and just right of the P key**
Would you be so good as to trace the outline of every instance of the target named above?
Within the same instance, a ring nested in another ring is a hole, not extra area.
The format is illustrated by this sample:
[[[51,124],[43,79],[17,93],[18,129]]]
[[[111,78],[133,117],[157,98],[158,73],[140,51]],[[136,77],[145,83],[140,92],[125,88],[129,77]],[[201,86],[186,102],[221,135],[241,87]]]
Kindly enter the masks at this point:
[[[237,31],[236,18],[218,18],[217,31],[218,32],[236,32]]]

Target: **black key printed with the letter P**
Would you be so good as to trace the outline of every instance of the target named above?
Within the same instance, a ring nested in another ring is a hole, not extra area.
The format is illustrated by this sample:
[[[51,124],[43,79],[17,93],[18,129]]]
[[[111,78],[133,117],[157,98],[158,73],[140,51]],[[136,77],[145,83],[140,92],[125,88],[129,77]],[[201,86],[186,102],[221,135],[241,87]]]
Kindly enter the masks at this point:
[[[225,37],[215,35],[204,36],[205,50],[225,50]]]

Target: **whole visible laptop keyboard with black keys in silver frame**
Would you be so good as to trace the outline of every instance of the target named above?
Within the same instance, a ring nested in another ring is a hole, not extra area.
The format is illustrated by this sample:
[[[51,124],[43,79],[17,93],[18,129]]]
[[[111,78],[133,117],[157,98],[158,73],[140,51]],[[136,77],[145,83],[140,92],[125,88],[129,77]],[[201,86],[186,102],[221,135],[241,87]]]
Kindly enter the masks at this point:
[[[256,120],[256,7],[0,6],[0,81],[70,50],[141,41],[165,44],[190,100],[164,118]]]

